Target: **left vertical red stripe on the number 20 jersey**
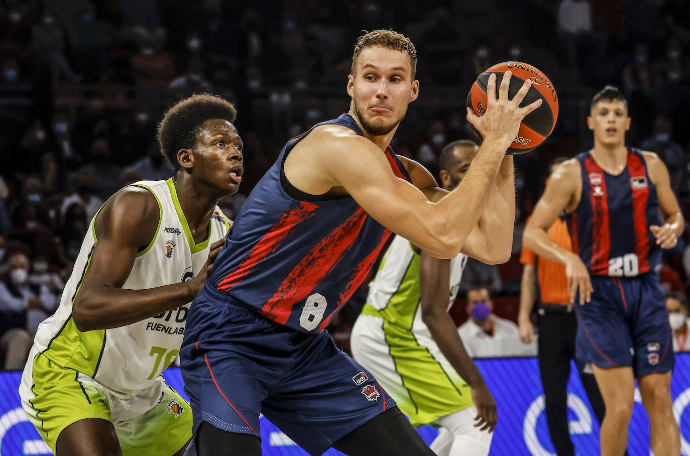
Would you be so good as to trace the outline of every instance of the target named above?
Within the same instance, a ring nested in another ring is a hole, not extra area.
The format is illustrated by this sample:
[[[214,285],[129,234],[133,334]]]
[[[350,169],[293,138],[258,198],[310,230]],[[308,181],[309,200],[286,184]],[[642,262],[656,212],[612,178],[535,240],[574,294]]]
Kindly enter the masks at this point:
[[[609,229],[609,201],[606,192],[604,170],[590,157],[584,159],[584,169],[589,179],[589,199],[592,206],[592,274],[609,274],[611,232]]]

